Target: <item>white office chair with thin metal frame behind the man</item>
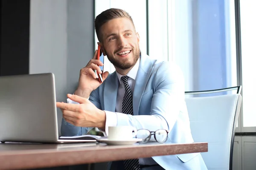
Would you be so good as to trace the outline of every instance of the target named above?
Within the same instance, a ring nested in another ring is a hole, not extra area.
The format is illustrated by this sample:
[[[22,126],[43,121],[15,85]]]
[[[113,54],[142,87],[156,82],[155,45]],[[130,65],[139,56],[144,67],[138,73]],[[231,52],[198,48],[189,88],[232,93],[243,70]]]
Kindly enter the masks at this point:
[[[193,139],[195,142],[208,142],[208,152],[201,153],[208,170],[232,170],[233,144],[242,100],[241,86],[185,92],[186,96],[190,96],[230,90],[237,92],[186,98]]]

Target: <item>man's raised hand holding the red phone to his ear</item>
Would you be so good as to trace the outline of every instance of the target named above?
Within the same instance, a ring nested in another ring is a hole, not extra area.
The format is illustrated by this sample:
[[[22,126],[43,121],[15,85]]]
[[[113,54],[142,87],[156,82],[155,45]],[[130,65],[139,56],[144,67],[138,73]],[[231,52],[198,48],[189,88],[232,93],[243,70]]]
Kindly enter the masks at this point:
[[[108,71],[102,74],[102,70],[99,66],[103,66],[103,63],[98,59],[100,54],[99,48],[95,51],[93,59],[91,59],[88,64],[80,70],[79,85],[75,91],[75,94],[81,97],[89,98],[90,93],[101,85],[101,83],[108,77]],[[94,70],[99,74],[102,74],[102,82],[100,78],[96,77]]]

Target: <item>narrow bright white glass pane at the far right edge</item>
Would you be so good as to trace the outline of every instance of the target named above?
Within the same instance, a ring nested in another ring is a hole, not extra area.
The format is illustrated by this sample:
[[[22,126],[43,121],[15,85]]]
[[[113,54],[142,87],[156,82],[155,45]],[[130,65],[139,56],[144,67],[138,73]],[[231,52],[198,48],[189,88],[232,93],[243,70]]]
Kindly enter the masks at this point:
[[[244,127],[256,126],[256,1],[240,0]]]

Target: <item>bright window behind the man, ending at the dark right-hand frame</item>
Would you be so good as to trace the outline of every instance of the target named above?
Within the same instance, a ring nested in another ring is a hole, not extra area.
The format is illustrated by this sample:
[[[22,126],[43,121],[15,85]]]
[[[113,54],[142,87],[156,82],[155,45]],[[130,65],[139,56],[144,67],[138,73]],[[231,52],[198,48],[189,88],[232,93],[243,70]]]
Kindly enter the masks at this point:
[[[147,51],[148,40],[151,58],[176,62],[183,70],[186,91],[237,85],[233,0],[95,2],[95,15],[107,8],[128,11],[141,37],[141,51]],[[98,42],[96,36],[95,42]],[[114,71],[107,57],[104,69]]]

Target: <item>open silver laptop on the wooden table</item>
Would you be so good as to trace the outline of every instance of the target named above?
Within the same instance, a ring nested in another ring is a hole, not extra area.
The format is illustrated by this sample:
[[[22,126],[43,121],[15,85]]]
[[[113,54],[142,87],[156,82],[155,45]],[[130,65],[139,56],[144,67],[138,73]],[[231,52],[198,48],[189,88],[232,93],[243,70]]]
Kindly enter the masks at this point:
[[[0,142],[76,143],[59,139],[54,74],[0,77]]]

